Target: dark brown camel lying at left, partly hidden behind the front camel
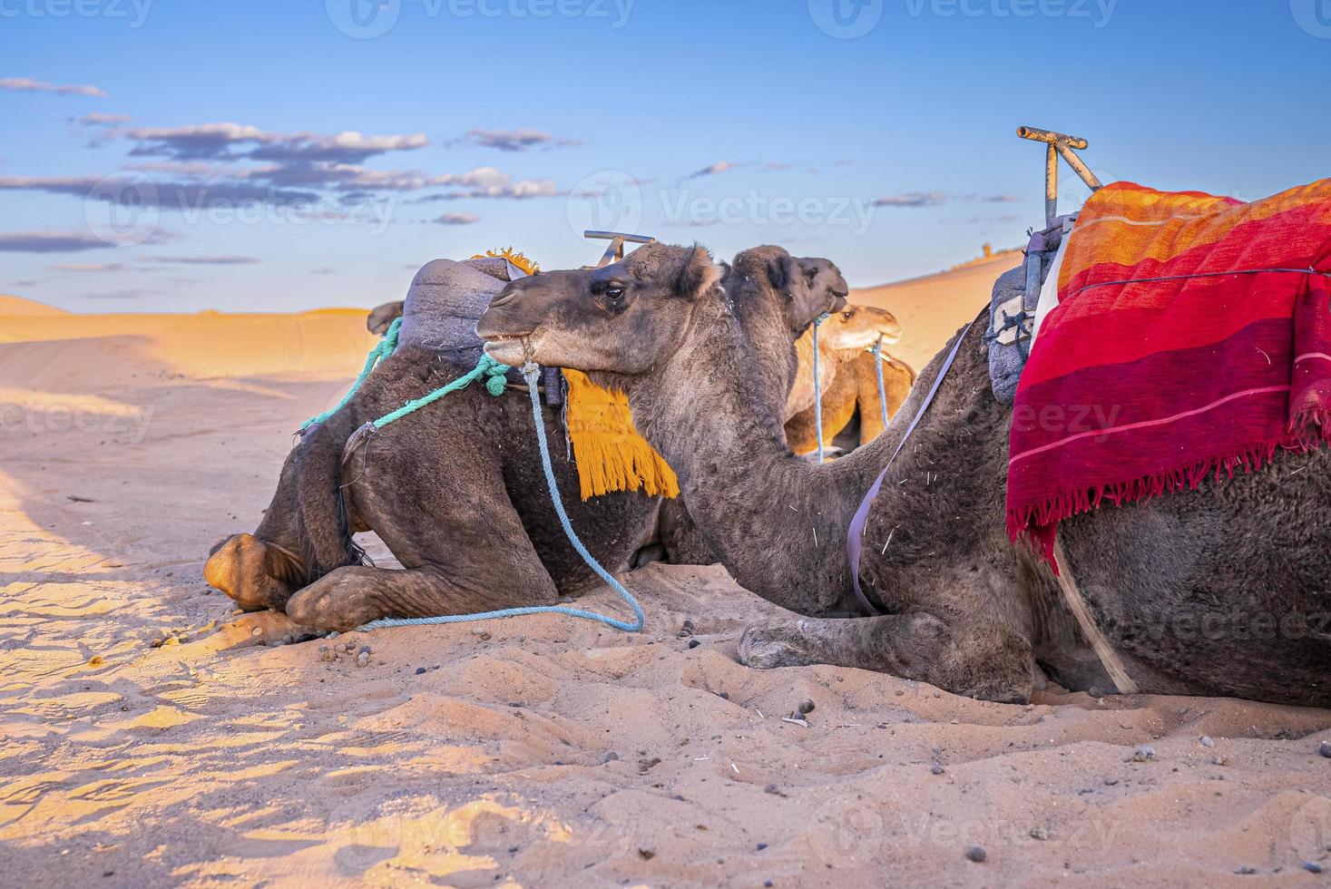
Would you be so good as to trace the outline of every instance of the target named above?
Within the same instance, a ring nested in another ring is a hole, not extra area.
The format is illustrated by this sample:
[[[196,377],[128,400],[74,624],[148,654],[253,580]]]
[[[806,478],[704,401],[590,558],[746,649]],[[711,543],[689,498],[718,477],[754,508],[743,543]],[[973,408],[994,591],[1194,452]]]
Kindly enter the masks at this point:
[[[779,248],[753,253],[764,277],[736,299],[755,318],[759,378],[772,381],[773,391],[760,394],[777,402],[793,365],[785,353],[793,353],[795,338],[815,317],[844,305],[845,282],[827,260],[797,260]],[[648,281],[662,274],[651,254],[635,267]],[[720,275],[712,265],[699,273],[676,286],[711,290]],[[343,464],[343,447],[358,427],[467,370],[421,347],[383,361],[295,446],[258,528],[214,548],[208,582],[244,608],[285,610],[294,623],[327,631],[385,616],[552,604],[590,586],[595,575],[564,539],[550,502],[526,397],[495,398],[470,386],[385,426]],[[550,441],[560,441],[558,409],[547,407],[544,422]],[[611,571],[627,567],[659,499],[623,492],[580,502],[568,496],[578,490],[576,466],[558,456],[554,466],[592,555]],[[351,534],[370,530],[405,570],[363,564]]]

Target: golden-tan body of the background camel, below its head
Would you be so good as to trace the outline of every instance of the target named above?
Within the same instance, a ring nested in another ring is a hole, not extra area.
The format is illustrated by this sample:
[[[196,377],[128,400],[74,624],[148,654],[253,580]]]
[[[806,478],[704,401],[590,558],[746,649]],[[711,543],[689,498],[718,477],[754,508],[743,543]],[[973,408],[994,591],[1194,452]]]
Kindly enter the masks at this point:
[[[878,395],[876,363],[882,365],[882,389],[888,415],[896,417],[916,373],[909,365],[886,353],[881,358],[862,349],[833,351],[832,385],[823,393],[823,441],[843,454],[868,444],[884,430],[882,398]],[[807,407],[785,422],[785,441],[796,454],[817,450],[817,415]]]

